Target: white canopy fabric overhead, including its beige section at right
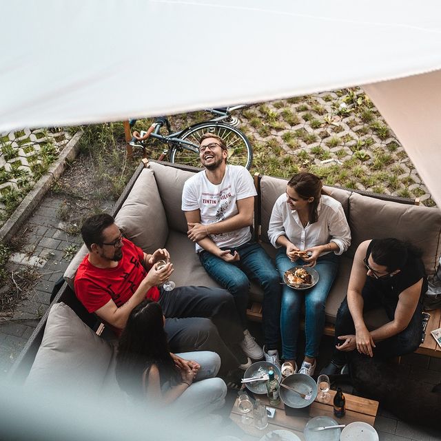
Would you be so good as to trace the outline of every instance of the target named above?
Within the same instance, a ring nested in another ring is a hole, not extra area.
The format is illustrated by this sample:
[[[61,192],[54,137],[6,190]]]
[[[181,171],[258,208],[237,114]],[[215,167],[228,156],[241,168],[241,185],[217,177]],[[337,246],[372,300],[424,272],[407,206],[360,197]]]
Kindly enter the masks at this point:
[[[438,0],[3,0],[1,10],[0,132],[368,85],[441,205]]]

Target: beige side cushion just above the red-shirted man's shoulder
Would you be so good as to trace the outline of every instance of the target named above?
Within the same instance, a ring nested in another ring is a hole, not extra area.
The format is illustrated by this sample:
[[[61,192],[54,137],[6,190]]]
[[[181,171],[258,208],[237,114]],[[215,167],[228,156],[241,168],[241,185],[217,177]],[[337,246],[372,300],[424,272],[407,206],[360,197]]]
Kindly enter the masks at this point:
[[[115,222],[144,252],[152,253],[164,247],[168,236],[167,217],[152,170],[144,169],[136,179]]]

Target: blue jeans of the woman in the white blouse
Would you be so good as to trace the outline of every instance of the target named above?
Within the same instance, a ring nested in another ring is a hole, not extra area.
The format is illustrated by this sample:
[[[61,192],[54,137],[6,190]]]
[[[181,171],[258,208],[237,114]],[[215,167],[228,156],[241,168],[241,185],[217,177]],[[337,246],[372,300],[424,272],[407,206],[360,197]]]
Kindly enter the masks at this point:
[[[298,265],[305,265],[302,259],[291,262],[282,247],[276,256],[276,265],[280,274]],[[300,327],[300,312],[305,299],[305,356],[318,356],[318,347],[325,327],[325,303],[338,270],[338,256],[325,254],[317,259],[314,267],[319,274],[317,285],[305,290],[297,290],[287,285],[283,287],[280,329],[282,331],[283,358],[294,360],[297,355],[297,338]]]

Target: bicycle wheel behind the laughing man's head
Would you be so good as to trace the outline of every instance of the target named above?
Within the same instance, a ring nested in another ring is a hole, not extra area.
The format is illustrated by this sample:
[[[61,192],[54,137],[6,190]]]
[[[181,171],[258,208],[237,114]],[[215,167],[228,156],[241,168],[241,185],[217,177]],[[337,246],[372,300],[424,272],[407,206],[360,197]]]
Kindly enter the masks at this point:
[[[224,123],[200,123],[190,126],[180,139],[190,141],[194,145],[199,145],[199,139],[205,133],[213,133],[225,141],[228,147],[228,163],[233,165],[243,165],[248,170],[253,161],[253,151],[251,143],[247,137],[234,127]],[[170,161],[172,163],[192,165],[201,167],[199,155],[196,152],[185,149],[183,145],[175,145],[170,152]]]

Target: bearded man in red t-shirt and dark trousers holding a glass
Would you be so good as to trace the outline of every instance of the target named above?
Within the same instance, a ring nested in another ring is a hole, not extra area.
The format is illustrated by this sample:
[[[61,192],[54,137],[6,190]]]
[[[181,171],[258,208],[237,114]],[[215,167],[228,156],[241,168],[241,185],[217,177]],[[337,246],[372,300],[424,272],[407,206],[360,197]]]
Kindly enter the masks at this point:
[[[123,238],[109,214],[86,219],[81,235],[89,253],[76,271],[75,294],[90,313],[107,322],[116,334],[125,327],[132,309],[144,298],[152,298],[163,309],[173,352],[215,351],[224,372],[250,364],[239,347],[243,334],[228,291],[207,287],[158,289],[174,271],[167,249],[145,254]],[[168,263],[156,269],[158,260]]]

